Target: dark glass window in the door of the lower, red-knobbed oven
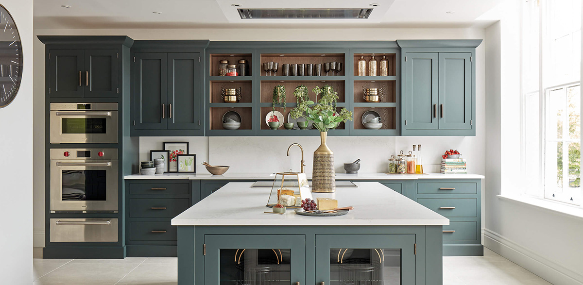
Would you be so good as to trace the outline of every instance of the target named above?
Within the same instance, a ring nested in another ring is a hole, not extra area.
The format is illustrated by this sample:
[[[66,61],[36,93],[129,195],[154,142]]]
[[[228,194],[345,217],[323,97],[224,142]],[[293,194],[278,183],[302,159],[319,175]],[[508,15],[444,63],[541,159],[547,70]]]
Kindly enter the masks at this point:
[[[107,170],[62,170],[63,201],[104,201]]]

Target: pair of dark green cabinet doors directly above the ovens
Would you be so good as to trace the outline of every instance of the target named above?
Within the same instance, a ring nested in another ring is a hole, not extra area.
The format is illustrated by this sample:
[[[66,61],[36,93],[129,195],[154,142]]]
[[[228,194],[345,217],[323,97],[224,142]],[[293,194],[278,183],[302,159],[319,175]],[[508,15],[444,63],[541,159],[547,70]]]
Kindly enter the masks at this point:
[[[119,52],[103,50],[50,50],[49,97],[117,98]]]

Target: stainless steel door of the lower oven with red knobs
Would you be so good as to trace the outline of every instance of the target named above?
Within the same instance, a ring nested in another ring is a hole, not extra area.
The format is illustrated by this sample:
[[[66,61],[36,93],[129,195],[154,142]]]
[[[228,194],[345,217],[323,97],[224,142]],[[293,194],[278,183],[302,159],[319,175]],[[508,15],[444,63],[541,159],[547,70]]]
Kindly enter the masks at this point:
[[[117,160],[51,160],[51,212],[116,212],[117,170]]]

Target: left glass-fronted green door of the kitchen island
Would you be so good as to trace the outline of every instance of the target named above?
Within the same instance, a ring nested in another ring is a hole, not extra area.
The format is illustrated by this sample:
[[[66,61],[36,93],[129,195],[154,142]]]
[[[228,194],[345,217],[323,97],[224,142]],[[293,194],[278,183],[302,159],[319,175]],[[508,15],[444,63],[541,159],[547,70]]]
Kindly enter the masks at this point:
[[[305,235],[205,235],[205,284],[305,283]]]

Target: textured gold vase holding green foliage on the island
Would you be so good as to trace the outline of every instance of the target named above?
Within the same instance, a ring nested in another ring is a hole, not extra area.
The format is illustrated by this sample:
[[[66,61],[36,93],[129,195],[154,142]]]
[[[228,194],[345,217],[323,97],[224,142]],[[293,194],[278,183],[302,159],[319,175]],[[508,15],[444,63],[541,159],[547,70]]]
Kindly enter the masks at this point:
[[[334,153],[326,145],[328,133],[320,132],[320,146],[314,152],[312,192],[335,192]]]

